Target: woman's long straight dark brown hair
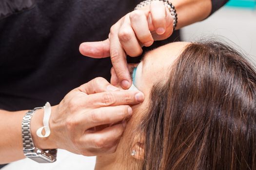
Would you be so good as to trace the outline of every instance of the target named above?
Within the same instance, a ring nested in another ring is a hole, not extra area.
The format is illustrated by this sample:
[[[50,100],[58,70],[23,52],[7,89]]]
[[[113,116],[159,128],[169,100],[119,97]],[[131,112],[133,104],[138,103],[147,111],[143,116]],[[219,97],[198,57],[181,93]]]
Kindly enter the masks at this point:
[[[188,45],[140,124],[142,170],[256,170],[256,72],[217,41]]]

